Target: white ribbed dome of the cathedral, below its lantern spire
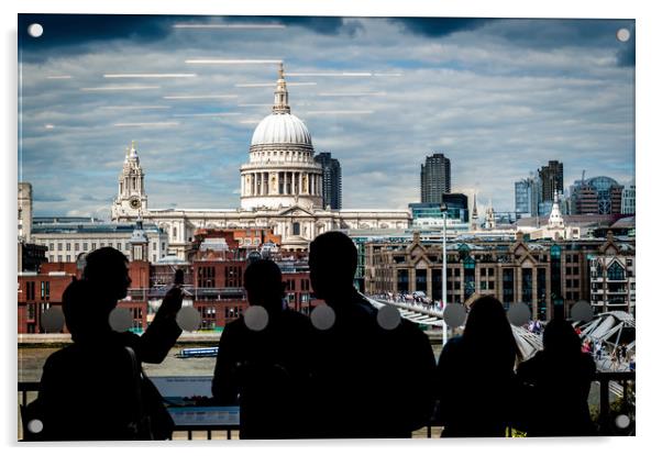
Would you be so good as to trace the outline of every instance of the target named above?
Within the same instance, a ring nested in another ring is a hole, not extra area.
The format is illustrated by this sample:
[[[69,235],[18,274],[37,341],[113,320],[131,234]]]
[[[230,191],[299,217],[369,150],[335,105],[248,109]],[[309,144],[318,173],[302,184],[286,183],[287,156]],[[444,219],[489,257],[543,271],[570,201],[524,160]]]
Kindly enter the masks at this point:
[[[251,145],[282,143],[312,146],[310,133],[299,118],[288,112],[274,112],[260,122]]]

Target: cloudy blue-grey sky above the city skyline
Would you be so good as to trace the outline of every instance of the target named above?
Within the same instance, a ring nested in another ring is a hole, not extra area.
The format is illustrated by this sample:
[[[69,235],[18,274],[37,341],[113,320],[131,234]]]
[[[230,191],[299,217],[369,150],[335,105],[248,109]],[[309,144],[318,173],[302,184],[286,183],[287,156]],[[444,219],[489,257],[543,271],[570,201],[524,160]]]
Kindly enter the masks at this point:
[[[550,159],[566,187],[635,179],[629,20],[22,14],[19,57],[37,215],[109,216],[132,140],[151,208],[238,207],[279,60],[291,112],[341,162],[344,208],[418,201],[434,152],[453,191],[497,211]]]

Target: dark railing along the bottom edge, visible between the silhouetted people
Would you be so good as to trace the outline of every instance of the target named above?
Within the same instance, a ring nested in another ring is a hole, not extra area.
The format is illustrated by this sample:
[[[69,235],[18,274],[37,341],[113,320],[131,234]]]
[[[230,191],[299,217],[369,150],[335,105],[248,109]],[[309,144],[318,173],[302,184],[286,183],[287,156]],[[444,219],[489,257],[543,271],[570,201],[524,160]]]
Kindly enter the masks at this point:
[[[635,435],[635,402],[633,402],[633,388],[635,388],[635,372],[615,372],[615,371],[600,371],[596,374],[595,381],[599,383],[599,414],[597,418],[597,427],[599,435]],[[616,382],[620,388],[614,388],[613,382]],[[19,381],[19,393],[20,404],[25,405],[27,403],[27,393],[38,391],[38,381]],[[611,412],[611,403],[609,401],[610,392],[614,396],[619,396],[618,392],[622,391],[619,399],[621,399],[620,410],[616,413]],[[632,398],[632,400],[630,400]],[[628,416],[628,424],[625,427],[619,427],[615,419],[618,414]],[[631,418],[630,418],[631,416]],[[426,425],[426,435],[428,438],[432,438],[433,430],[438,429],[441,431],[442,424],[433,419]],[[235,427],[233,427],[235,429]],[[192,440],[194,432],[205,432],[207,440],[212,440],[212,431],[223,430],[227,432],[227,438],[232,438],[232,430],[228,427],[205,427],[196,426],[195,429],[177,429],[175,432],[185,431],[188,440]],[[512,430],[508,430],[508,435],[511,435]],[[236,435],[236,431],[234,432]],[[435,433],[435,435],[439,435]]]

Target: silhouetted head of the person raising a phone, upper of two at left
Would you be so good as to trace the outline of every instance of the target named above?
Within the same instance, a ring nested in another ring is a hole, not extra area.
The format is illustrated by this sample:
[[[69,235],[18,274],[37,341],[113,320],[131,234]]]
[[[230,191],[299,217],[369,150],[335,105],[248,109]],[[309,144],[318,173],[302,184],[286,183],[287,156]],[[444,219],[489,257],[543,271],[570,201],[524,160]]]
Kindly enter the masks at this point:
[[[126,297],[131,285],[129,259],[112,247],[101,247],[85,257],[82,278],[93,285],[98,293],[115,301]]]

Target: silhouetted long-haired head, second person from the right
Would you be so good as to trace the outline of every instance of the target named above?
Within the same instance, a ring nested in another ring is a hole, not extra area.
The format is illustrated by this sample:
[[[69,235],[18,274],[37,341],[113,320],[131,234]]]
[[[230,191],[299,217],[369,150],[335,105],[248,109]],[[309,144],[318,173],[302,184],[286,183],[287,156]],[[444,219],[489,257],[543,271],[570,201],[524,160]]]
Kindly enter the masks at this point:
[[[474,301],[462,338],[470,349],[484,354],[489,363],[503,363],[510,369],[515,358],[520,356],[504,305],[492,296]]]

